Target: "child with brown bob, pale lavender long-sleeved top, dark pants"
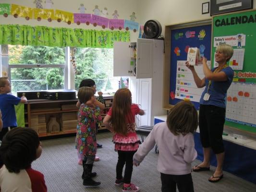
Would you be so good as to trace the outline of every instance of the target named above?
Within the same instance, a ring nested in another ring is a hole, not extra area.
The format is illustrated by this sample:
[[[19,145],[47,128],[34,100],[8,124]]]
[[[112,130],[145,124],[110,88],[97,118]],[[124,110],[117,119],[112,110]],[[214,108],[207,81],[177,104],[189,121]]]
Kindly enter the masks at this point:
[[[191,163],[197,153],[193,133],[198,125],[198,116],[193,104],[182,101],[168,113],[167,121],[158,123],[134,154],[138,166],[148,152],[158,145],[158,171],[161,173],[162,192],[194,192]]]

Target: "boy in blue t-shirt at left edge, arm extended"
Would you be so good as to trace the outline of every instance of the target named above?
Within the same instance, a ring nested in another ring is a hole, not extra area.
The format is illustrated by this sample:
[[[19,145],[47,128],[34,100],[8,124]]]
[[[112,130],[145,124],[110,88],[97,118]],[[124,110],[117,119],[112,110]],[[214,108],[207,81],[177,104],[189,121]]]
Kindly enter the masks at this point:
[[[0,141],[2,140],[6,132],[14,127],[17,127],[14,105],[27,102],[25,96],[19,98],[8,94],[10,92],[11,84],[8,80],[8,77],[0,77],[0,110],[2,112],[3,121],[3,128],[0,132]]]

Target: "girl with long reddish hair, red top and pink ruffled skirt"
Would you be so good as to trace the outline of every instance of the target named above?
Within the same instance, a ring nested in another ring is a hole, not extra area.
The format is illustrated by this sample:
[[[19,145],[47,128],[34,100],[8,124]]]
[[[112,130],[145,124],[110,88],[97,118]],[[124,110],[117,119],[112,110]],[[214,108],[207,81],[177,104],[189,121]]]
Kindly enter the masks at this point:
[[[139,188],[131,183],[133,172],[133,156],[139,147],[139,139],[135,132],[135,115],[144,115],[144,111],[132,104],[129,89],[121,88],[114,96],[112,108],[103,120],[104,125],[114,132],[113,142],[118,152],[116,165],[116,185],[123,183],[123,192],[138,192]],[[125,164],[124,177],[122,169]]]

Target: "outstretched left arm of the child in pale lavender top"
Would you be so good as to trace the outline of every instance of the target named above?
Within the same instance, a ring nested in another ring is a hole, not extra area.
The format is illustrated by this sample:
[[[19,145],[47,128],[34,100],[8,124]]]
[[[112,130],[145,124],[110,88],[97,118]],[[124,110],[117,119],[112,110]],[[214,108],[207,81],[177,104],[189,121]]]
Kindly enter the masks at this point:
[[[145,156],[148,154],[151,149],[155,146],[156,141],[154,137],[154,128],[146,137],[146,140],[139,146],[137,152],[134,154],[134,165],[139,166],[143,161]]]

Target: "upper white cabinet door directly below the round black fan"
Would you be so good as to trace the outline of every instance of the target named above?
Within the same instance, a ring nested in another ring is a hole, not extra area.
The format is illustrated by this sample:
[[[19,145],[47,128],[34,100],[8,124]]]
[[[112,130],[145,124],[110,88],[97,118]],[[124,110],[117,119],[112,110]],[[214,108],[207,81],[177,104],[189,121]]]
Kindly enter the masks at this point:
[[[152,78],[153,39],[137,39],[136,78]]]

